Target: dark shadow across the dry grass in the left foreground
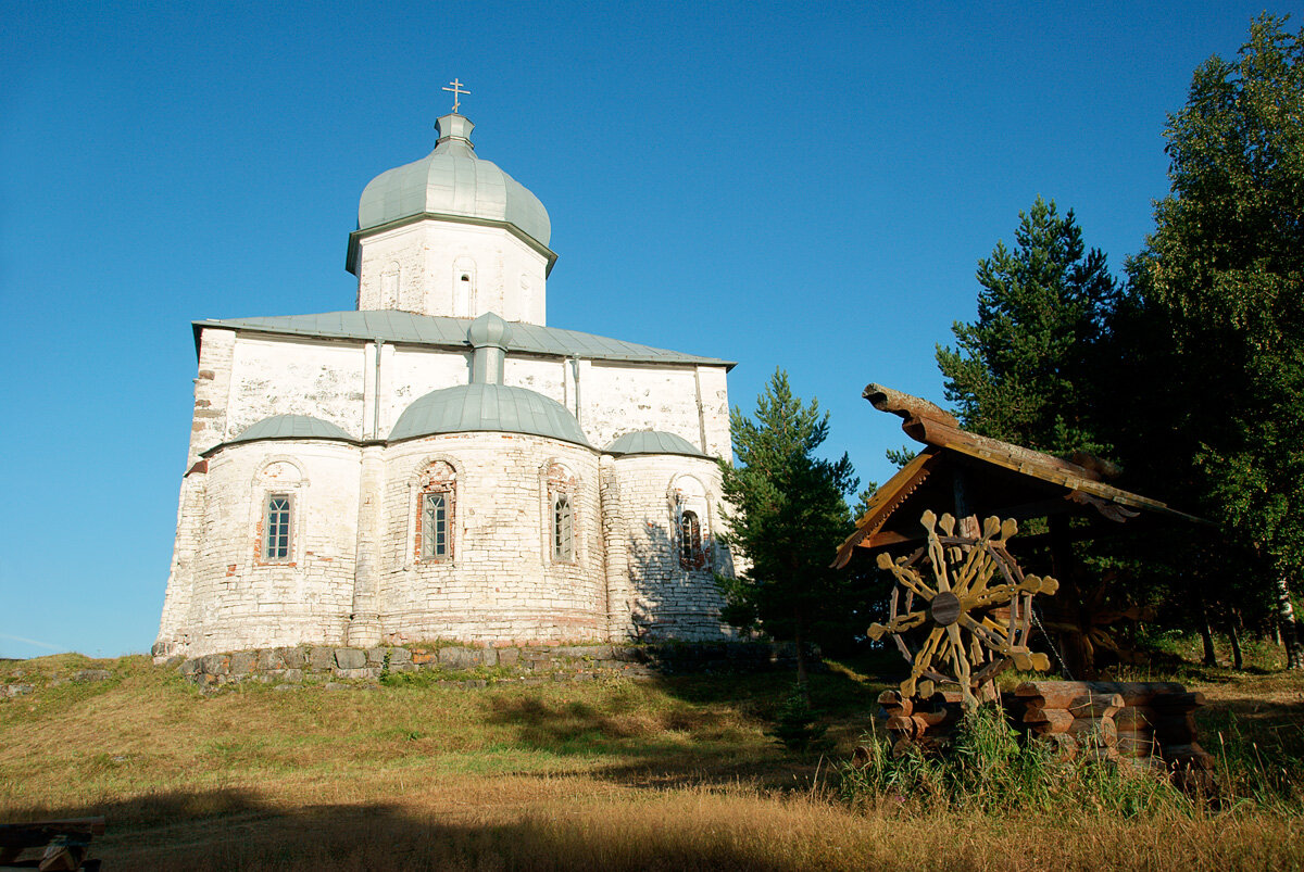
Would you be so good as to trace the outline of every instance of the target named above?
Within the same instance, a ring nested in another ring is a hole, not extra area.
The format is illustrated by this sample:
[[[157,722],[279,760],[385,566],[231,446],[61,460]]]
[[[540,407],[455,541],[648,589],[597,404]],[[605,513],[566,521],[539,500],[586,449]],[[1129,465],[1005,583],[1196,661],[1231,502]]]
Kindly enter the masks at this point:
[[[463,813],[398,803],[286,808],[252,792],[155,795],[29,809],[26,820],[103,815],[91,858],[111,869],[797,869],[764,846],[713,838],[675,817],[651,834],[569,809]]]

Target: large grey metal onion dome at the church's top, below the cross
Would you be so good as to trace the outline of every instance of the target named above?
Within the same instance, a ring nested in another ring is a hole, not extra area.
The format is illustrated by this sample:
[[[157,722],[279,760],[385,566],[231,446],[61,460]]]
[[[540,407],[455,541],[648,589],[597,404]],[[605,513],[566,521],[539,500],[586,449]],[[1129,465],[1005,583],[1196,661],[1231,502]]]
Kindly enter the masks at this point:
[[[473,126],[462,115],[439,119],[434,151],[382,172],[363,189],[357,229],[432,214],[506,222],[546,249],[552,237],[548,211],[524,185],[475,155]]]

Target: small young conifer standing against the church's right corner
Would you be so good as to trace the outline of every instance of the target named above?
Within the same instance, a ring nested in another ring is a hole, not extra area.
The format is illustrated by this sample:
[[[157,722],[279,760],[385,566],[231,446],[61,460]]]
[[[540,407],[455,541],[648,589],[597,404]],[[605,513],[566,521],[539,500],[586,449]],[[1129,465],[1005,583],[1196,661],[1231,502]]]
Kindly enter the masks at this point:
[[[845,454],[836,461],[815,456],[828,438],[828,414],[816,400],[805,405],[794,396],[781,370],[758,398],[755,418],[735,407],[730,425],[735,461],[721,464],[732,507],[724,538],[742,551],[747,570],[720,580],[725,618],[759,622],[767,635],[797,641],[801,656],[803,643],[835,637],[831,624],[844,627],[849,617],[852,576],[829,563],[852,530],[846,497],[858,481]]]

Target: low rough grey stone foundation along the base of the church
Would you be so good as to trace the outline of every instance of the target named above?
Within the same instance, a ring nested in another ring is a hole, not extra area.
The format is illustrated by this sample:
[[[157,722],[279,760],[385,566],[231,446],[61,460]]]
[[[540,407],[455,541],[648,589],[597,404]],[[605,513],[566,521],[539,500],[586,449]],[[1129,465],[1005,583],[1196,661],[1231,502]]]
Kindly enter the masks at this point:
[[[162,660],[162,658],[159,658]],[[261,648],[205,654],[172,663],[201,687],[241,682],[270,684],[377,682],[385,675],[426,671],[463,686],[595,678],[655,678],[704,673],[758,673],[795,669],[790,644],[716,643],[661,645],[466,645],[398,648]]]

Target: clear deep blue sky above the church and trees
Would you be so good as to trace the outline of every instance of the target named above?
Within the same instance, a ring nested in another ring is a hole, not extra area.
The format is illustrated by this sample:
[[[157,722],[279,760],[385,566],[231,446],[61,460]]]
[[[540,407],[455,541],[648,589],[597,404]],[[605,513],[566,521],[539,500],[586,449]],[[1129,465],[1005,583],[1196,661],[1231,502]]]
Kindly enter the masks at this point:
[[[0,3],[0,657],[147,650],[198,318],[335,312],[357,197],[441,86],[533,190],[550,325],[781,366],[885,480],[867,382],[934,348],[1041,194],[1121,270],[1162,130],[1254,3]],[[1297,4],[1277,4],[1295,13]]]

